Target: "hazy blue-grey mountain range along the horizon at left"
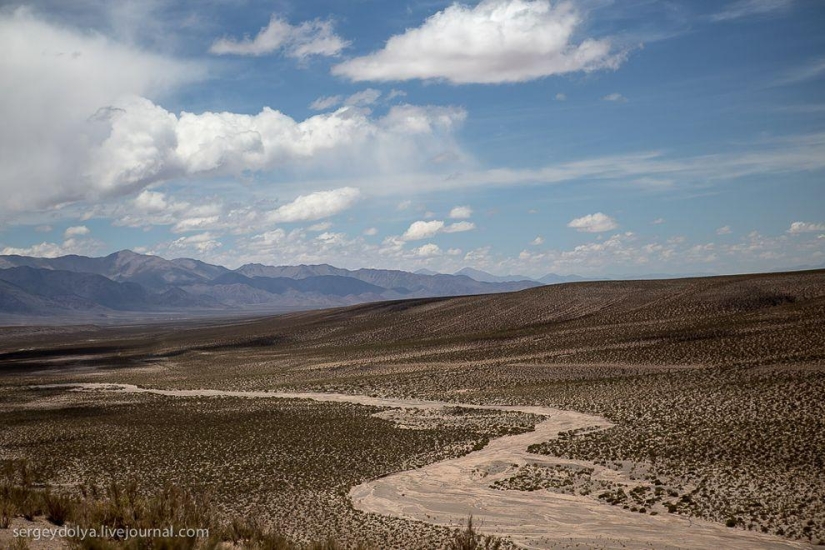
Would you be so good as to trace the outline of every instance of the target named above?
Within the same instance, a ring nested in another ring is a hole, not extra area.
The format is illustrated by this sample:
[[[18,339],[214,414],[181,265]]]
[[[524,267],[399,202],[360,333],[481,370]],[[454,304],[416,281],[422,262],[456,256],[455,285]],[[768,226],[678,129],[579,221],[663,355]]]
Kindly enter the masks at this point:
[[[221,312],[309,309],[380,300],[523,290],[533,281],[485,282],[465,275],[327,264],[236,270],[123,250],[101,258],[0,256],[0,314]]]

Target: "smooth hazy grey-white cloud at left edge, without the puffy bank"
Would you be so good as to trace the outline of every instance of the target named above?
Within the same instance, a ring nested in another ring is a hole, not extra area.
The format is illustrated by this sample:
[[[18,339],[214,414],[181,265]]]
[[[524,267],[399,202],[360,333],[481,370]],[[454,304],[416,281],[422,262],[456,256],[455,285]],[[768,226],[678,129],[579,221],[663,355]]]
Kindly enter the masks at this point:
[[[0,86],[0,210],[8,211],[99,194],[105,187],[88,170],[90,144],[105,138],[119,112],[106,107],[205,74],[201,65],[47,23],[22,8],[0,10],[0,51],[3,82],[13,83]]]

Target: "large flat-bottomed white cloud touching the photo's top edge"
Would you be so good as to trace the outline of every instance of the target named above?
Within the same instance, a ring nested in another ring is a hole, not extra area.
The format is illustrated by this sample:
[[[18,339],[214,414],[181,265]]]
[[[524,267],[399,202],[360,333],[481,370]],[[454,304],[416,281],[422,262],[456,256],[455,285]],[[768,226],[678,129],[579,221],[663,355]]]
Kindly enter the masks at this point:
[[[383,49],[333,67],[354,81],[444,79],[455,84],[524,82],[550,75],[615,69],[622,54],[586,38],[572,2],[483,0],[455,3]]]

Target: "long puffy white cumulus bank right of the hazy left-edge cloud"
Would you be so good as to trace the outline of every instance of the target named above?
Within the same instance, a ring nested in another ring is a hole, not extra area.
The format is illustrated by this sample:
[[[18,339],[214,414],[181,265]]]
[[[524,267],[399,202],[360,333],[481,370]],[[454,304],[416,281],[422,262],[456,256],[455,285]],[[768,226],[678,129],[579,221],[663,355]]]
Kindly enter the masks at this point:
[[[458,108],[399,105],[377,119],[342,107],[298,122],[269,107],[256,115],[178,117],[144,98],[119,105],[87,172],[97,190],[110,195],[174,178],[295,167],[310,159],[314,169],[337,166],[348,153],[371,170],[397,168],[423,162],[430,149],[450,143],[466,117]]]

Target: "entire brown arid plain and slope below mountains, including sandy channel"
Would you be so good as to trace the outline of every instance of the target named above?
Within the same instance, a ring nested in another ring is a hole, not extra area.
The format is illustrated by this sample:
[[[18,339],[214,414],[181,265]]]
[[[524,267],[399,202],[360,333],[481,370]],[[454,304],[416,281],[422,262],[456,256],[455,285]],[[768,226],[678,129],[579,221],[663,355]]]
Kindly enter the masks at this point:
[[[805,548],[823,418],[823,271],[6,328],[0,545],[464,548],[472,515],[503,547]]]

